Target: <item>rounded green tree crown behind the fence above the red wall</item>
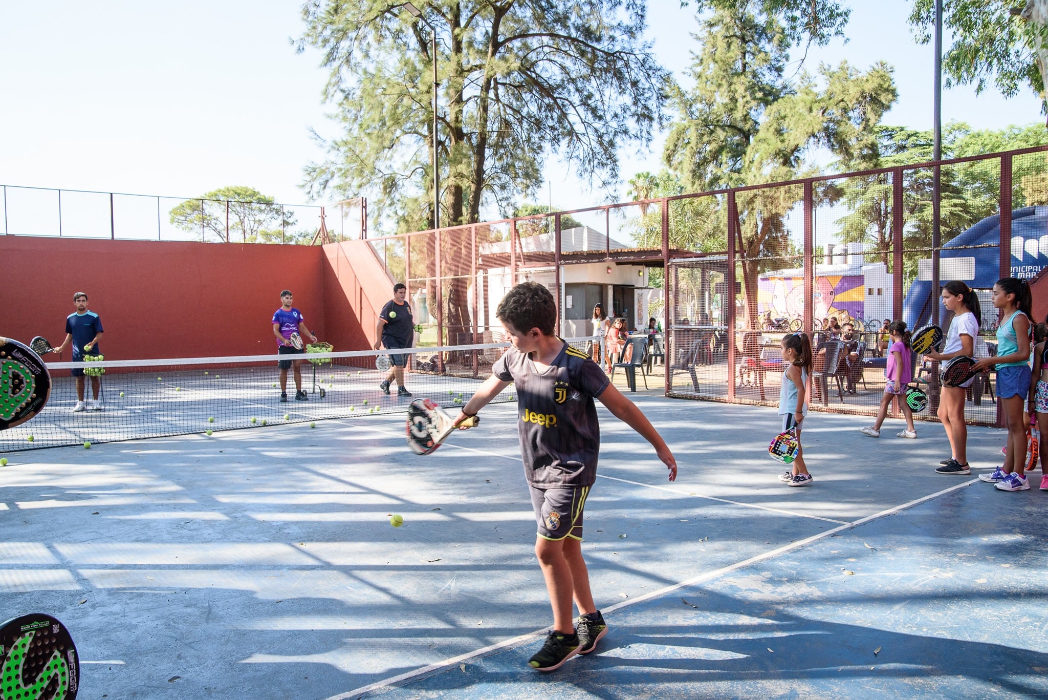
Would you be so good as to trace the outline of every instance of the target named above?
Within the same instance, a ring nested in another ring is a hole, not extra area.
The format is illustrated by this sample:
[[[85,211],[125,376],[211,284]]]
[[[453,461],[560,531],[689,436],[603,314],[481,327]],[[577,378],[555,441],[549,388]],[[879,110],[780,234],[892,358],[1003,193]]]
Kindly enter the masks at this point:
[[[245,243],[308,243],[308,232],[292,231],[294,212],[250,187],[222,187],[187,199],[171,210],[171,224],[203,240]]]

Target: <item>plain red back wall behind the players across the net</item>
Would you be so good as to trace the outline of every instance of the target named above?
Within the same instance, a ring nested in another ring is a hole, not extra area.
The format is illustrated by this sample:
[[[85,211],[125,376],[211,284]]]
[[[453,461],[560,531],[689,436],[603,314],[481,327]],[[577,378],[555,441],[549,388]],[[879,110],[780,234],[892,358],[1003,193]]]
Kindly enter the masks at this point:
[[[107,360],[276,353],[269,321],[283,289],[321,340],[342,338],[341,326],[355,323],[336,288],[326,303],[330,264],[312,246],[0,236],[0,336],[58,345],[75,312],[73,292],[85,292],[106,330]],[[328,327],[325,306],[337,330]],[[68,349],[62,359],[71,359]]]

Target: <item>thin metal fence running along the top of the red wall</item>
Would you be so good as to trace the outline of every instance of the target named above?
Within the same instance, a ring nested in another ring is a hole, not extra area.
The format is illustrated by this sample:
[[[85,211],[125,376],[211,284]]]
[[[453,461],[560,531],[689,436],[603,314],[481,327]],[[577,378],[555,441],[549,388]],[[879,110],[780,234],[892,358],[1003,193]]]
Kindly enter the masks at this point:
[[[15,185],[0,186],[0,208],[4,235],[260,243],[312,242],[324,211],[313,205]]]

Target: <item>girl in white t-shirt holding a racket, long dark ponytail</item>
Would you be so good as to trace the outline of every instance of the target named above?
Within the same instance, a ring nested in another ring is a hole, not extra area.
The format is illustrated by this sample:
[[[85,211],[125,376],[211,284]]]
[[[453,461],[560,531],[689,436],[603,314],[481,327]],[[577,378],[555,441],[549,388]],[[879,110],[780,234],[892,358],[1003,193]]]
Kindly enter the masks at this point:
[[[979,297],[975,290],[964,282],[946,282],[942,288],[942,305],[953,312],[954,320],[949,322],[946,333],[946,344],[941,353],[929,351],[926,356],[932,360],[945,362],[960,355],[971,357],[975,353],[976,338],[979,337],[979,323],[982,321],[982,311],[979,309]],[[946,430],[949,440],[951,457],[943,460],[939,468],[940,474],[970,474],[971,468],[967,460],[968,428],[964,423],[964,400],[967,387],[973,380],[963,386],[943,386],[939,395],[939,420]]]

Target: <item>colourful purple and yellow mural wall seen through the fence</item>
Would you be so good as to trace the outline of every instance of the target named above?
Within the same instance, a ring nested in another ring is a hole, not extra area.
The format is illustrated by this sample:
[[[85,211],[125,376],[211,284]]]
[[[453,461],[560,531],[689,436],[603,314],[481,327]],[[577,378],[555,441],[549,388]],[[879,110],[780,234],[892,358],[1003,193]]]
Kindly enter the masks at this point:
[[[761,277],[757,307],[772,318],[800,317],[804,312],[804,277]],[[815,278],[815,318],[863,316],[865,280],[861,275],[827,275]]]

